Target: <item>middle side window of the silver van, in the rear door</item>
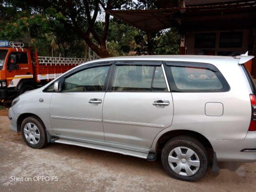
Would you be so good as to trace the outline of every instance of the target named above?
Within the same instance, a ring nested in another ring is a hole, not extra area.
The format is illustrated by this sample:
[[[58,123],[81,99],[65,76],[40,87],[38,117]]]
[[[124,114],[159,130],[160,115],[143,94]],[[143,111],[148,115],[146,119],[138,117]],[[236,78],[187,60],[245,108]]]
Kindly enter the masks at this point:
[[[161,66],[116,66],[112,91],[167,91]]]

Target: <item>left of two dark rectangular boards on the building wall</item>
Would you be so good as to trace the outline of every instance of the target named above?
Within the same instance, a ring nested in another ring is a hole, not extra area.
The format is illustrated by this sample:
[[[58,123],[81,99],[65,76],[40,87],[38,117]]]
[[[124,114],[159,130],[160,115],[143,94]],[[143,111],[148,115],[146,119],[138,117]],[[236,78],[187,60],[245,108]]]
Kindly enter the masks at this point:
[[[216,33],[196,33],[195,34],[195,48],[208,49],[215,48]]]

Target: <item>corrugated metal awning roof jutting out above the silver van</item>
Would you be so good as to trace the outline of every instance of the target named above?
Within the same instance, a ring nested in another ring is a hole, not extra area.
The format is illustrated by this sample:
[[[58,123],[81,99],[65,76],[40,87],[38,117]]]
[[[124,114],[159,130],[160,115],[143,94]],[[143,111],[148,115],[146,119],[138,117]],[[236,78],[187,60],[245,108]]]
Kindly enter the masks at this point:
[[[182,25],[183,27],[195,25],[197,28],[205,25],[207,28],[211,27],[209,22],[216,22],[212,23],[213,26],[222,23],[222,27],[227,24],[239,28],[256,25],[256,1],[154,10],[109,10],[107,13],[146,32]]]

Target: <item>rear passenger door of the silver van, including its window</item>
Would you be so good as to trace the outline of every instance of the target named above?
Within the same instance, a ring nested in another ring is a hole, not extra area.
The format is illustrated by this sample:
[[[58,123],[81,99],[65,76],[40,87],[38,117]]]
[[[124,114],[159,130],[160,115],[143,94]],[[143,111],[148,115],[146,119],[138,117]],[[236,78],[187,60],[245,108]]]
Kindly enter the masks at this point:
[[[150,148],[172,124],[173,99],[160,61],[116,62],[103,104],[106,142]]]

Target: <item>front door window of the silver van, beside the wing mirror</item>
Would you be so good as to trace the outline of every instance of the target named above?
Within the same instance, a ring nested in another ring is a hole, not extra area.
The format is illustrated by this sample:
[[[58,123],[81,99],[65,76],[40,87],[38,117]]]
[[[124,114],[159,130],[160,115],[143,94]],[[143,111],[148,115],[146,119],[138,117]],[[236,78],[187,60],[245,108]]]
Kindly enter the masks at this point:
[[[103,91],[110,66],[84,69],[65,78],[61,92]]]

